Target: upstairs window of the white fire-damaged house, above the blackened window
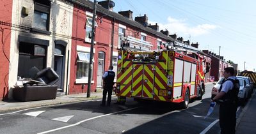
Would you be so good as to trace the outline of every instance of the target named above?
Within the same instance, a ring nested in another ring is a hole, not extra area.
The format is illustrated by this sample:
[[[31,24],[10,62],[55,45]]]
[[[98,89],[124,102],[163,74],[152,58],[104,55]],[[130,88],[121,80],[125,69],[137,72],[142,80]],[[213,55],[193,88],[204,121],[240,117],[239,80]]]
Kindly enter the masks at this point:
[[[35,0],[33,27],[44,31],[49,31],[49,15],[51,1]]]

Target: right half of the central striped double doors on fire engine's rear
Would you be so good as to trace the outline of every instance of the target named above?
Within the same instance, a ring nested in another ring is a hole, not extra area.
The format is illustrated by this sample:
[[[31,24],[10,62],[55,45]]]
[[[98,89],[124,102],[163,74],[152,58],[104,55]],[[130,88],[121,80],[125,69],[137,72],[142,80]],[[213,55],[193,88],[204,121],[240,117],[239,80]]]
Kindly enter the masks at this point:
[[[153,98],[154,64],[144,64],[142,97]]]

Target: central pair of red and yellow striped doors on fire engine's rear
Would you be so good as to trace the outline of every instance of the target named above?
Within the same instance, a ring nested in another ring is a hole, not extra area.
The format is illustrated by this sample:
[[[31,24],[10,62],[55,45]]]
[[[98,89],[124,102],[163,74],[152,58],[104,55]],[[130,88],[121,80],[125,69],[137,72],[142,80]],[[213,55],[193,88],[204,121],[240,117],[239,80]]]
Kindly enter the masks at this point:
[[[132,96],[153,98],[154,64],[133,64]]]

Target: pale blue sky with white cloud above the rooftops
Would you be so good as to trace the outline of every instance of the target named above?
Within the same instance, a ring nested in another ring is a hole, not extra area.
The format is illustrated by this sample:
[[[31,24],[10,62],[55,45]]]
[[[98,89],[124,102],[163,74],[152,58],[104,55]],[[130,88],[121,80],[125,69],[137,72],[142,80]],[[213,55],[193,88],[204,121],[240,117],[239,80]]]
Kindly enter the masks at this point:
[[[112,0],[113,11],[144,14],[148,24],[158,24],[184,40],[199,43],[238,64],[239,70],[256,71],[256,1],[254,0]],[[245,63],[245,64],[244,64]],[[245,65],[245,66],[244,66]]]

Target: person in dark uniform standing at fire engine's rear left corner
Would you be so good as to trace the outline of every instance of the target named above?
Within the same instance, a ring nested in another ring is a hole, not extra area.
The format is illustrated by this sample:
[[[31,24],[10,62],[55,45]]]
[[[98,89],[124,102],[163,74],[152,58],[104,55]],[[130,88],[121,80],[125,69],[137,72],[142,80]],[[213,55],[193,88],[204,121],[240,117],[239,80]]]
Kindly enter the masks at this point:
[[[114,79],[115,79],[115,72],[113,71],[113,66],[109,66],[109,70],[104,73],[102,76],[104,80],[104,88],[103,88],[103,96],[102,96],[102,104],[101,106],[106,105],[106,96],[108,93],[108,106],[111,103],[111,95],[113,91]]]

